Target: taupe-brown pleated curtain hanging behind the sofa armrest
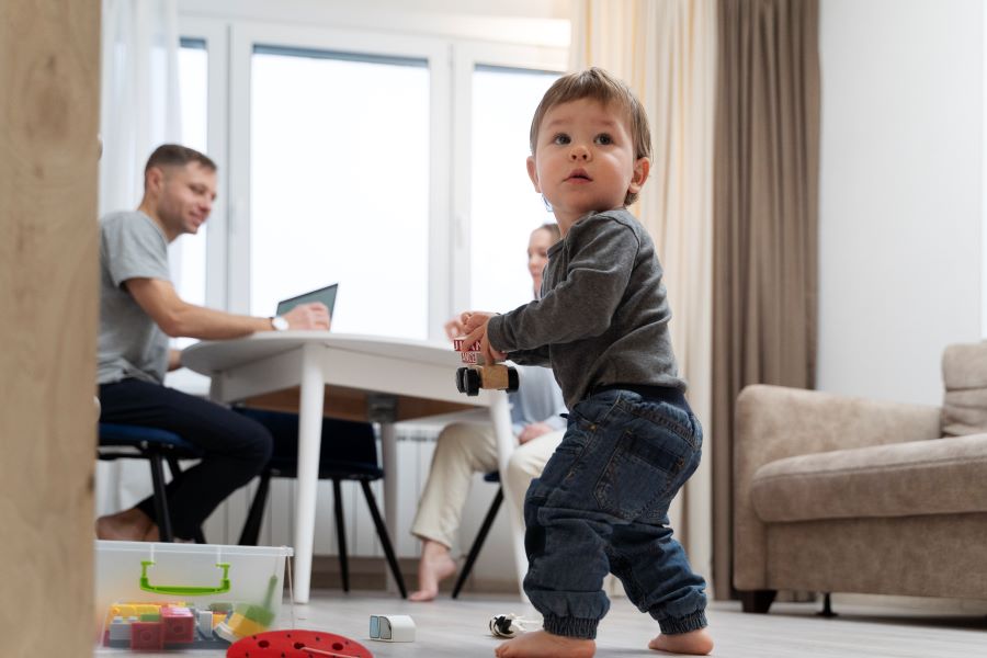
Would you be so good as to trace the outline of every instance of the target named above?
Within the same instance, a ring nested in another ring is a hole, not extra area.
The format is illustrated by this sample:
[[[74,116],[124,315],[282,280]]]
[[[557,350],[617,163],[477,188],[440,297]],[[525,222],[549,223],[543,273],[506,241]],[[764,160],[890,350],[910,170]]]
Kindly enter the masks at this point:
[[[812,388],[817,324],[818,0],[718,0],[713,262],[717,595],[731,585],[734,400]]]

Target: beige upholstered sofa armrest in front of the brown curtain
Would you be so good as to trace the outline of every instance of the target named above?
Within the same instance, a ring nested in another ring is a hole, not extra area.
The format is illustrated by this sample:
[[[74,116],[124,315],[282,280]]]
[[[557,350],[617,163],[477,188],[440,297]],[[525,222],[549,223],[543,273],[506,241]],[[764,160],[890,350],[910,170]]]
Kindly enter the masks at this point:
[[[940,408],[781,386],[748,386],[734,419],[734,587],[770,589],[767,534],[750,485],[764,464],[812,453],[938,439]]]

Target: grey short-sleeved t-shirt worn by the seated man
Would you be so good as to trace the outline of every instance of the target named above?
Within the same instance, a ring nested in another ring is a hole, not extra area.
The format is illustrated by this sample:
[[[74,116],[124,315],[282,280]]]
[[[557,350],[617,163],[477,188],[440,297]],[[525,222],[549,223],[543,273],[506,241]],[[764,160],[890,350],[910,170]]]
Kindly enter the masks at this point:
[[[135,377],[161,384],[168,371],[168,336],[137,304],[124,282],[170,281],[168,240],[139,211],[100,220],[100,340],[98,383]]]

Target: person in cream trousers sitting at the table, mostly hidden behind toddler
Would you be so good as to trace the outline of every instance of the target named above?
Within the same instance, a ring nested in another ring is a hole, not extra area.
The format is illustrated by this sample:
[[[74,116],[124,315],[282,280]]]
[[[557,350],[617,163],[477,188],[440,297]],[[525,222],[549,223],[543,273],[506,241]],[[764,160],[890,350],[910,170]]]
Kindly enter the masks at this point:
[[[527,269],[534,283],[535,298],[542,287],[542,271],[548,248],[559,238],[558,226],[546,224],[531,234],[527,247]],[[462,334],[458,319],[445,326],[449,337]],[[511,421],[520,443],[511,455],[506,491],[510,512],[522,513],[524,494],[532,478],[537,477],[565,433],[566,412],[561,390],[552,371],[544,367],[518,367],[520,388],[510,394]],[[497,442],[494,427],[486,422],[454,423],[442,430],[432,456],[411,534],[422,541],[418,563],[418,591],[411,601],[431,601],[439,593],[439,582],[456,570],[450,549],[460,527],[463,506],[469,494],[474,473],[497,470]]]

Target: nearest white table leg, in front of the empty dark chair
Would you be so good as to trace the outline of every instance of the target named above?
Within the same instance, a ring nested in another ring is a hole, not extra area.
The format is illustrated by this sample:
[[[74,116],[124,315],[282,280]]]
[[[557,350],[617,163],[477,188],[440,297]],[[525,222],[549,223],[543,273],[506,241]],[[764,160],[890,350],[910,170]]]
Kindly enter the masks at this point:
[[[295,601],[308,603],[315,540],[316,495],[326,389],[317,345],[302,348],[302,390],[298,408],[298,479],[295,503]]]

